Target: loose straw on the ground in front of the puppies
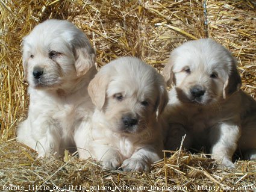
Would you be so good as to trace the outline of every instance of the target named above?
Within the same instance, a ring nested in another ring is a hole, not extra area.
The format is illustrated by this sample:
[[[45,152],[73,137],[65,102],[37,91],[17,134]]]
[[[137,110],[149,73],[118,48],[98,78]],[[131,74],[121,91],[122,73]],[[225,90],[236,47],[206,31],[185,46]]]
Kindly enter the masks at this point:
[[[0,166],[1,185],[13,188],[20,186],[27,190],[40,186],[42,189],[48,186],[52,189],[58,187],[70,190],[73,186],[84,187],[87,190],[93,187],[109,187],[107,190],[105,188],[99,191],[131,191],[131,187],[145,187],[144,191],[158,191],[160,187],[169,186],[173,187],[173,190],[174,187],[180,187],[181,191],[196,191],[198,187],[215,187],[216,191],[217,188],[218,191],[229,191],[223,189],[255,186],[256,164],[253,162],[240,161],[237,163],[237,170],[232,172],[217,169],[213,159],[205,158],[205,155],[191,155],[182,151],[177,151],[171,158],[155,163],[151,173],[143,174],[102,171],[97,163],[81,161],[71,155],[63,161],[52,157],[36,159],[33,150],[20,147],[15,141],[3,143],[0,155],[1,164],[4,165]],[[158,190],[154,186],[158,187]]]

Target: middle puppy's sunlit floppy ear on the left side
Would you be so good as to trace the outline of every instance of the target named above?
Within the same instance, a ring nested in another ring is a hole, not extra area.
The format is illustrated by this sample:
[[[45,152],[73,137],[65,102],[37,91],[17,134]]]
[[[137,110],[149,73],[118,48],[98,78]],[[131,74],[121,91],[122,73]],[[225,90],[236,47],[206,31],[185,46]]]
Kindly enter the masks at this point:
[[[101,110],[105,104],[106,91],[109,82],[109,76],[101,72],[97,73],[88,85],[88,93],[92,102],[98,110]]]

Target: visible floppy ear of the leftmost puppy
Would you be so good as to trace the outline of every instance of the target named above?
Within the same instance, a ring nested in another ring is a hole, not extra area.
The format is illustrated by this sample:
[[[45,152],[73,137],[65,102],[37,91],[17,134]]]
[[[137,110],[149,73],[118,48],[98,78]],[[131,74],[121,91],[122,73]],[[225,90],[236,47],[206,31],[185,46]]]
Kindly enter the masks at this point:
[[[72,40],[73,54],[75,56],[75,69],[77,76],[83,76],[95,65],[96,53],[86,36],[77,36]]]

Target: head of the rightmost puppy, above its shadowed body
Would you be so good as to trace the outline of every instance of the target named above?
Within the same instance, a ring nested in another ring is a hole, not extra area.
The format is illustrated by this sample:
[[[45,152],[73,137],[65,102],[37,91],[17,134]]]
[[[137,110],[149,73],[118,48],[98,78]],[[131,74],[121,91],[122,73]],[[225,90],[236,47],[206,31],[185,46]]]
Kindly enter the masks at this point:
[[[175,84],[181,102],[214,104],[241,85],[236,59],[211,39],[186,42],[174,49],[163,70],[167,84]]]

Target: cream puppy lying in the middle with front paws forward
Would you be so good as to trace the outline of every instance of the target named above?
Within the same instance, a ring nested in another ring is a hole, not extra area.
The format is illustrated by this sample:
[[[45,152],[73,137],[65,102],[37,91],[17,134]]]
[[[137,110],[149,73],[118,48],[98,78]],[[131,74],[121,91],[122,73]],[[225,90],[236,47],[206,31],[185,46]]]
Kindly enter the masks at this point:
[[[99,70],[88,91],[96,110],[75,135],[80,158],[148,172],[163,149],[157,122],[168,101],[163,77],[138,58],[121,57]]]

